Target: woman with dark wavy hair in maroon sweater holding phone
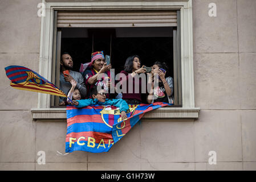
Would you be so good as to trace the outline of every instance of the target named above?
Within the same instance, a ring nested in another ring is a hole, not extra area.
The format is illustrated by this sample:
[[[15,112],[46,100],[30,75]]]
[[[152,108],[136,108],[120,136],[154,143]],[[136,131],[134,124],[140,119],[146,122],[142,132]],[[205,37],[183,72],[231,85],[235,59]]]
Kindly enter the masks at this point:
[[[141,73],[145,73],[146,69],[141,67],[140,57],[137,55],[129,56],[124,64],[124,70],[120,73],[123,73],[126,77],[120,78],[121,85],[127,85],[127,92],[123,94],[123,100],[127,104],[141,104],[141,80],[136,81],[135,76]],[[132,80],[132,81],[131,81]],[[131,83],[132,85],[129,85]],[[132,92],[129,93],[129,86],[132,86]],[[135,90],[139,88],[139,93],[136,93]]]

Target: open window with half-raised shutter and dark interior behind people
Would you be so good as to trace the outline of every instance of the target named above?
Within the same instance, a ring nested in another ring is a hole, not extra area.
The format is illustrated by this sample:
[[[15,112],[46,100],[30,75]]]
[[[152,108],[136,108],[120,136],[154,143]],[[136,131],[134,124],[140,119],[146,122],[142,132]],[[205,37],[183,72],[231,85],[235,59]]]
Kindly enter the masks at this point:
[[[174,79],[174,106],[182,106],[180,10],[172,11],[54,11],[52,82],[59,87],[60,55],[69,52],[74,71],[91,60],[91,53],[111,56],[115,74],[128,56],[139,55],[143,65],[165,61],[166,77]],[[51,107],[59,98],[51,96]]]

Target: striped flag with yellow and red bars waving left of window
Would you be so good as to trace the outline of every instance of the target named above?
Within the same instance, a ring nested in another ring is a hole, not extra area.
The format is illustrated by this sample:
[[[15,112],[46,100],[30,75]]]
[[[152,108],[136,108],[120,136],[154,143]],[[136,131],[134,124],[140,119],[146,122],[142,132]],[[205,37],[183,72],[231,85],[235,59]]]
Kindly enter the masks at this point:
[[[5,72],[11,80],[10,85],[15,89],[67,97],[62,90],[29,68],[11,65],[5,68]]]

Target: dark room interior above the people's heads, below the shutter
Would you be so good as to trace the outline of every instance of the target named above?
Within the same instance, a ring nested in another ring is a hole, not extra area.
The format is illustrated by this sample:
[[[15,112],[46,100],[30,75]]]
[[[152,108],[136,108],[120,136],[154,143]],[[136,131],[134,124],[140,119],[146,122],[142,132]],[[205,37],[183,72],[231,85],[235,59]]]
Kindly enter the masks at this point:
[[[172,27],[141,28],[62,28],[61,52],[69,52],[74,61],[74,71],[81,63],[91,60],[91,53],[104,51],[111,55],[115,73],[123,70],[125,60],[139,55],[142,65],[151,67],[155,61],[165,61],[169,66],[166,77],[173,77]]]

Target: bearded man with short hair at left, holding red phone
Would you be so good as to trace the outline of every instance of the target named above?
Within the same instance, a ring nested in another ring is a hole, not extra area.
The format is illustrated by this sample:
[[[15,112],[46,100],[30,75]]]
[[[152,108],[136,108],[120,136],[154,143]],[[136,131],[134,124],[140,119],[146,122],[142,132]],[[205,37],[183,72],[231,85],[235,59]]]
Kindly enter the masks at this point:
[[[73,60],[69,53],[64,52],[60,59],[60,90],[62,90],[65,94],[68,94],[68,90],[71,89],[71,80],[75,80],[77,82],[76,88],[79,89],[82,97],[86,96],[87,89],[84,84],[84,78],[81,73],[72,71],[73,68]],[[64,73],[63,73],[64,72]],[[66,98],[60,97],[59,105],[66,105]]]

